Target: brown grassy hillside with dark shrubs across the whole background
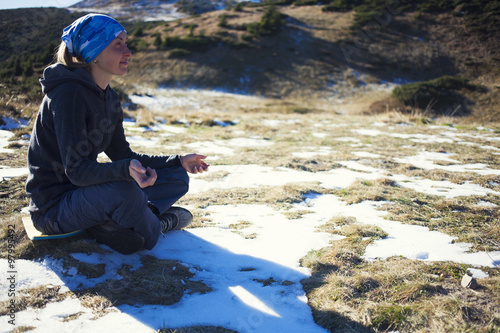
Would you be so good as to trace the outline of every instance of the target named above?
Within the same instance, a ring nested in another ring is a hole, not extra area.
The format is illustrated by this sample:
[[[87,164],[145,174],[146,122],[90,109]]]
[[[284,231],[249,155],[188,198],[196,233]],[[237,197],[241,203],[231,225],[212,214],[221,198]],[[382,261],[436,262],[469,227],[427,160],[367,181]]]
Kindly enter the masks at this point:
[[[64,17],[54,20],[42,19],[44,14],[35,9],[24,10],[22,15],[0,11],[2,35],[11,36],[12,26],[28,32],[15,43],[12,38],[11,42],[3,39],[0,92],[15,100],[3,113],[29,118],[36,110],[41,98],[37,78],[62,28],[82,15],[78,10],[121,10],[129,13],[123,23],[134,55],[129,75],[117,79],[115,87],[126,94],[144,85],[201,87],[294,98],[306,105],[311,98],[330,101],[341,113],[413,112],[422,103],[415,102],[416,97],[395,100],[392,88],[447,75],[465,78],[476,88],[445,90],[442,95],[457,98],[448,108],[434,110],[436,114],[482,123],[498,119],[498,5],[482,0],[474,3],[488,5],[473,8],[450,7],[450,1],[432,6],[431,2],[405,1],[394,8],[381,6],[380,1],[339,0],[307,6],[298,4],[315,1],[275,2],[285,5],[276,6],[281,16],[267,22],[275,25],[269,31],[261,28],[267,10],[261,4],[210,11],[193,7],[199,5],[197,1],[163,2],[161,8],[168,7],[177,15],[181,9],[201,12],[167,22],[137,20],[151,19],[148,1],[82,1],[71,13],[42,10],[50,12],[50,17]],[[220,2],[210,4],[213,9]],[[484,15],[478,18],[478,13]],[[29,22],[36,22],[36,29]],[[47,32],[44,38],[39,37],[40,31]],[[427,111],[433,111],[434,92],[424,94],[430,94]]]

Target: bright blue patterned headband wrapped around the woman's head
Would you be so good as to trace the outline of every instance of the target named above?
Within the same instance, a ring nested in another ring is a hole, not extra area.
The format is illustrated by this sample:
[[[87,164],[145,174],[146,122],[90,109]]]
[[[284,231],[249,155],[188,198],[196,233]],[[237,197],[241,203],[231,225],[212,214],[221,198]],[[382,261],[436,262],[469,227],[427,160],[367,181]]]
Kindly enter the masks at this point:
[[[122,31],[115,19],[101,14],[88,14],[64,28],[61,39],[73,57],[86,63],[94,60]]]

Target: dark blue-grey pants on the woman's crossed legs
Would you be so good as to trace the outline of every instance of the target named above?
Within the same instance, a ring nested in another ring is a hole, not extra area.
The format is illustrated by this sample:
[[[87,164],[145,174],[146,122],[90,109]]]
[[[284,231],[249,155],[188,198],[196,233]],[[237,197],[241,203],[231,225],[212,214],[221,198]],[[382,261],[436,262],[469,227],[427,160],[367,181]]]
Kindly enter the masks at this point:
[[[152,249],[161,233],[158,217],[148,207],[164,213],[189,189],[189,176],[181,166],[156,170],[153,186],[141,189],[135,181],[119,181],[68,191],[59,204],[34,219],[46,234],[60,234],[114,221],[144,236]]]

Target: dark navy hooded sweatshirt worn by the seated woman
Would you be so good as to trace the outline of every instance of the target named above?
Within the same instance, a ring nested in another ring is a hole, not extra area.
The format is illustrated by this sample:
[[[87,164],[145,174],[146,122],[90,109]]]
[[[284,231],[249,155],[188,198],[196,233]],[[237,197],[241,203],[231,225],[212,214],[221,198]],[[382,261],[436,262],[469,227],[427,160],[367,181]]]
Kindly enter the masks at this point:
[[[134,181],[132,159],[160,169],[180,165],[178,155],[150,156],[130,149],[123,130],[123,110],[117,93],[102,90],[83,68],[55,64],[40,79],[45,94],[28,150],[26,192],[34,219],[81,186]],[[110,163],[97,162],[104,152]]]

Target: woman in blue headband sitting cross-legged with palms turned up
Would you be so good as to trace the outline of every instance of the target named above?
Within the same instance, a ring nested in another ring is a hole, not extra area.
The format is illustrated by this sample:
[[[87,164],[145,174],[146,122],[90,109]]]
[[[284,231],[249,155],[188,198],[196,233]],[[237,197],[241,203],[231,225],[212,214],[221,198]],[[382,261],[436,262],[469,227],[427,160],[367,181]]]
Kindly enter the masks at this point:
[[[89,14],[64,29],[57,63],[40,79],[45,94],[28,150],[26,191],[34,226],[46,234],[79,229],[130,254],[192,220],[172,207],[187,172],[208,170],[204,155],[150,156],[125,139],[123,110],[109,83],[127,74],[127,34],[109,16]],[[97,162],[104,152],[110,163]]]

